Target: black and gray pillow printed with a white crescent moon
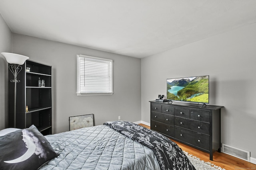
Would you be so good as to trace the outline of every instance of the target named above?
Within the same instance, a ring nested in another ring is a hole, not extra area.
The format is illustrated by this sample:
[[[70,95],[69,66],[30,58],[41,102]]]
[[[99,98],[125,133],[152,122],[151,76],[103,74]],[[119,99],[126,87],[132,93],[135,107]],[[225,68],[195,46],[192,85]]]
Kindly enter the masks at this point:
[[[36,170],[56,156],[34,125],[0,137],[1,170]]]

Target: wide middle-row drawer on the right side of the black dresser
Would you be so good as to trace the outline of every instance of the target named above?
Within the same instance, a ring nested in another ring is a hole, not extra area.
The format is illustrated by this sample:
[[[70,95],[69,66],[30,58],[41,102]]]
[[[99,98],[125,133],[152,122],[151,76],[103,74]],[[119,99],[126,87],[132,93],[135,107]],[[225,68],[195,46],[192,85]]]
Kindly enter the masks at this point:
[[[175,126],[210,135],[210,123],[175,117]]]

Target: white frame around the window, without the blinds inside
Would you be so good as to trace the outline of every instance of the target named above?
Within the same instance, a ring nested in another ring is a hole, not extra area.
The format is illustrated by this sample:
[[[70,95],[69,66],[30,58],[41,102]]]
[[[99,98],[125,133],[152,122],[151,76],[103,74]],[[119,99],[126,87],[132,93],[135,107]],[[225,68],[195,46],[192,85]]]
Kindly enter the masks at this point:
[[[80,92],[80,57],[81,58],[88,58],[88,59],[96,59],[96,60],[101,60],[101,61],[109,61],[111,63],[111,92]],[[77,85],[77,90],[76,94],[77,96],[97,96],[97,95],[112,95],[113,92],[113,60],[111,59],[104,59],[100,57],[92,57],[88,55],[76,55],[76,61],[77,61],[77,80],[76,80],[76,85]]]

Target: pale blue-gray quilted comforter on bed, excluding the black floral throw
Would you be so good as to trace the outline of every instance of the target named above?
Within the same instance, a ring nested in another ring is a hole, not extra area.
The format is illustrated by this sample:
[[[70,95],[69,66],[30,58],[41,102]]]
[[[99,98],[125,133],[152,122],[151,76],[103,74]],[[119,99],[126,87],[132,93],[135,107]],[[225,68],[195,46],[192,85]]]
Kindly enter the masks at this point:
[[[106,125],[45,137],[58,156],[40,170],[160,170],[151,149]]]

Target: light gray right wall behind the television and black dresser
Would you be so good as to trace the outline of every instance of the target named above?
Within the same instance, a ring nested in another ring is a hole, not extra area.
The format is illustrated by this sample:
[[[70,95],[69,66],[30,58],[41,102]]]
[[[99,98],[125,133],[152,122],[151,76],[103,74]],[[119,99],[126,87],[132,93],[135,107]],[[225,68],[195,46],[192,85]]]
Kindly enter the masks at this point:
[[[210,104],[224,106],[222,143],[256,158],[255,45],[256,23],[142,59],[142,121],[148,101],[166,95],[166,78],[210,75]]]

